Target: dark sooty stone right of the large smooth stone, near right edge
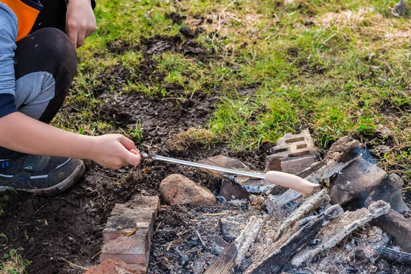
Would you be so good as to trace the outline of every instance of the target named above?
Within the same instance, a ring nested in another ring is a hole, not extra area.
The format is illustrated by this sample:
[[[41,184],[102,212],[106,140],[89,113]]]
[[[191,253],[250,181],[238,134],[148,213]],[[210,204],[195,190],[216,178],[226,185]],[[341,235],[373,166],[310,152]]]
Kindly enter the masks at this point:
[[[384,177],[381,183],[373,189],[369,197],[366,199],[365,206],[368,207],[374,201],[383,200],[390,203],[393,210],[400,214],[405,214],[410,209],[403,201],[403,184],[403,180],[397,174],[391,174],[388,177]]]

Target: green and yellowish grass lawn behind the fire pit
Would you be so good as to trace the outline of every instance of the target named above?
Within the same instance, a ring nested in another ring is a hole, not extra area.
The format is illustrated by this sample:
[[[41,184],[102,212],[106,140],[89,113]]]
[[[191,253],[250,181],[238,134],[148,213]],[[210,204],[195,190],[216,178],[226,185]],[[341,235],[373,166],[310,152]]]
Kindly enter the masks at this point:
[[[99,27],[79,50],[79,73],[67,99],[79,111],[60,114],[56,124],[83,134],[123,132],[96,115],[101,101],[93,89],[101,84],[99,75],[116,64],[138,71],[145,58],[132,49],[141,47],[142,38],[178,34],[181,25],[165,15],[174,11],[187,16],[183,25],[189,27],[199,16],[212,19],[201,25],[206,32],[195,39],[208,51],[207,58],[153,55],[155,73],[164,79],[148,86],[130,81],[122,92],[169,97],[164,86],[179,84],[184,94],[171,96],[187,99],[217,90],[220,100],[204,125],[210,131],[204,143],[218,140],[234,150],[254,149],[286,132],[310,128],[324,148],[347,134],[375,145],[389,139],[394,149],[382,157],[382,164],[408,171],[411,31],[409,18],[390,14],[397,1],[285,2],[99,1]],[[119,43],[130,50],[108,51]],[[258,85],[254,94],[238,95],[238,88],[253,84]],[[106,89],[112,92],[110,86]],[[127,134],[140,140],[144,132],[136,123]],[[388,138],[378,135],[384,127],[391,131]]]

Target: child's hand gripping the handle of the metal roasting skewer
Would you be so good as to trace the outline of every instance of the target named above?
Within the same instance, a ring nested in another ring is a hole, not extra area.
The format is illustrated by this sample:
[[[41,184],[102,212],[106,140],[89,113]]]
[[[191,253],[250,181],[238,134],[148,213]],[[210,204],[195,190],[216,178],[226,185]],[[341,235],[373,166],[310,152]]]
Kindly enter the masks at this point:
[[[126,164],[138,166],[141,156],[136,145],[121,134],[106,134],[93,137],[90,160],[109,169],[121,169]]]

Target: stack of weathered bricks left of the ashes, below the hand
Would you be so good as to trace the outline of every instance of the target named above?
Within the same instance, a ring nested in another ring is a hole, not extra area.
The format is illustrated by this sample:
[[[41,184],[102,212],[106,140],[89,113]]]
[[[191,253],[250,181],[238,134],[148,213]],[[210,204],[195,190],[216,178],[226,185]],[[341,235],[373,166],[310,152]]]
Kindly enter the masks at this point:
[[[117,203],[103,230],[100,261],[123,261],[145,273],[159,206],[157,196],[138,195],[128,203]]]

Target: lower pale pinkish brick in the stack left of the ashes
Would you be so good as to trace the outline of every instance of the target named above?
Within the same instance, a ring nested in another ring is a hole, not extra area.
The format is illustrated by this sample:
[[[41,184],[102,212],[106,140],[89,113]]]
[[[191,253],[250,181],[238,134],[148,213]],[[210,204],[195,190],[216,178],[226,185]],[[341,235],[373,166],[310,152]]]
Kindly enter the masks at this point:
[[[148,266],[150,255],[149,229],[138,229],[132,236],[119,236],[105,242],[101,249],[100,261],[121,260],[127,264]]]

